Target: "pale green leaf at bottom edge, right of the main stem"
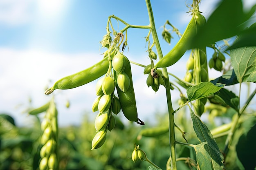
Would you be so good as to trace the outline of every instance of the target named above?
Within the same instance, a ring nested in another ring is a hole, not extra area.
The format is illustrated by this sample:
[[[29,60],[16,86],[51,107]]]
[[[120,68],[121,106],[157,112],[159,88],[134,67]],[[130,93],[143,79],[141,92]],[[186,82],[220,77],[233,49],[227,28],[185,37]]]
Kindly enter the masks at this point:
[[[196,161],[198,163],[198,170],[212,170],[211,168],[211,156],[205,150],[207,142],[203,142],[198,145],[193,145],[196,153]]]

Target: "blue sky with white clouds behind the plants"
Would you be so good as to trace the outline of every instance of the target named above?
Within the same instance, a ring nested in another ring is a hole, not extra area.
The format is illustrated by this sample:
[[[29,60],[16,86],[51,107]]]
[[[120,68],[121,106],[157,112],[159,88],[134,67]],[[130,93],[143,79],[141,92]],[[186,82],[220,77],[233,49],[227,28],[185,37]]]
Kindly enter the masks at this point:
[[[171,45],[161,37],[161,26],[169,20],[183,33],[191,16],[186,4],[192,0],[152,0],[155,25],[164,54],[178,41],[173,35]],[[200,11],[207,18],[216,0],[202,0]],[[250,7],[254,0],[246,0]],[[254,2],[255,3],[255,2]],[[101,60],[99,41],[106,34],[108,16],[116,15],[129,24],[147,25],[148,14],[144,0],[0,0],[0,112],[11,114],[19,125],[31,124],[33,117],[21,113],[29,106],[40,106],[51,96],[44,95],[45,88],[58,79],[88,68]],[[115,20],[112,23],[117,29]],[[119,22],[120,30],[124,25]],[[148,30],[129,29],[128,48],[124,54],[135,62],[148,65],[145,40]],[[184,66],[189,53],[169,69],[183,77]],[[211,54],[208,55],[208,57]],[[155,94],[146,86],[143,68],[132,65],[138,112],[145,120],[157,111],[166,111],[164,88]],[[211,71],[217,77],[218,72]],[[60,125],[78,124],[85,112],[91,112],[96,97],[94,87],[97,81],[68,91],[54,91],[59,109]],[[179,93],[173,91],[173,98]],[[184,92],[185,93],[185,92]],[[65,109],[65,101],[70,108]],[[149,101],[155,104],[148,104]],[[96,116],[93,114],[92,119]],[[121,115],[120,115],[121,116]]]

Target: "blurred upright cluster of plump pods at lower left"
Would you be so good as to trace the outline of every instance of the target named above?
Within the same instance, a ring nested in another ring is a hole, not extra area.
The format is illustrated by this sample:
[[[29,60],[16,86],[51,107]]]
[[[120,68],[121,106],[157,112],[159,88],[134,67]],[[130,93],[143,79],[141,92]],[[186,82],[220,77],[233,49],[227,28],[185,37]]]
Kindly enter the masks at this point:
[[[43,135],[41,137],[41,144],[43,147],[40,150],[40,170],[58,169],[57,157],[57,141],[58,141],[58,111],[56,109],[54,100],[49,104],[46,111],[45,118],[41,123],[41,130]]]

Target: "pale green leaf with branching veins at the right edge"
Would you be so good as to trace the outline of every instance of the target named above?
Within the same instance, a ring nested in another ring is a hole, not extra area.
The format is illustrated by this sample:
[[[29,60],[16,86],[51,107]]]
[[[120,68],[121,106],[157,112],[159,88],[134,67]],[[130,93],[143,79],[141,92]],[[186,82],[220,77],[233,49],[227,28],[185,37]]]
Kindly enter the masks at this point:
[[[230,50],[230,58],[238,82],[256,82],[256,46]]]

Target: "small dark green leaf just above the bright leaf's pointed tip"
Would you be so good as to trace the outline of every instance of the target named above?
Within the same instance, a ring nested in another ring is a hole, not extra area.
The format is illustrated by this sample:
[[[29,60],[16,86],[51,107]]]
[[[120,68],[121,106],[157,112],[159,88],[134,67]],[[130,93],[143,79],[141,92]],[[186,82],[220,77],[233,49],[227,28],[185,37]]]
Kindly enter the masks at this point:
[[[229,70],[224,75],[222,75],[214,80],[211,80],[210,82],[212,82],[213,84],[221,83],[221,84],[225,84],[226,86],[230,86],[230,85],[239,83],[237,81],[237,77],[236,77],[234,69]]]

